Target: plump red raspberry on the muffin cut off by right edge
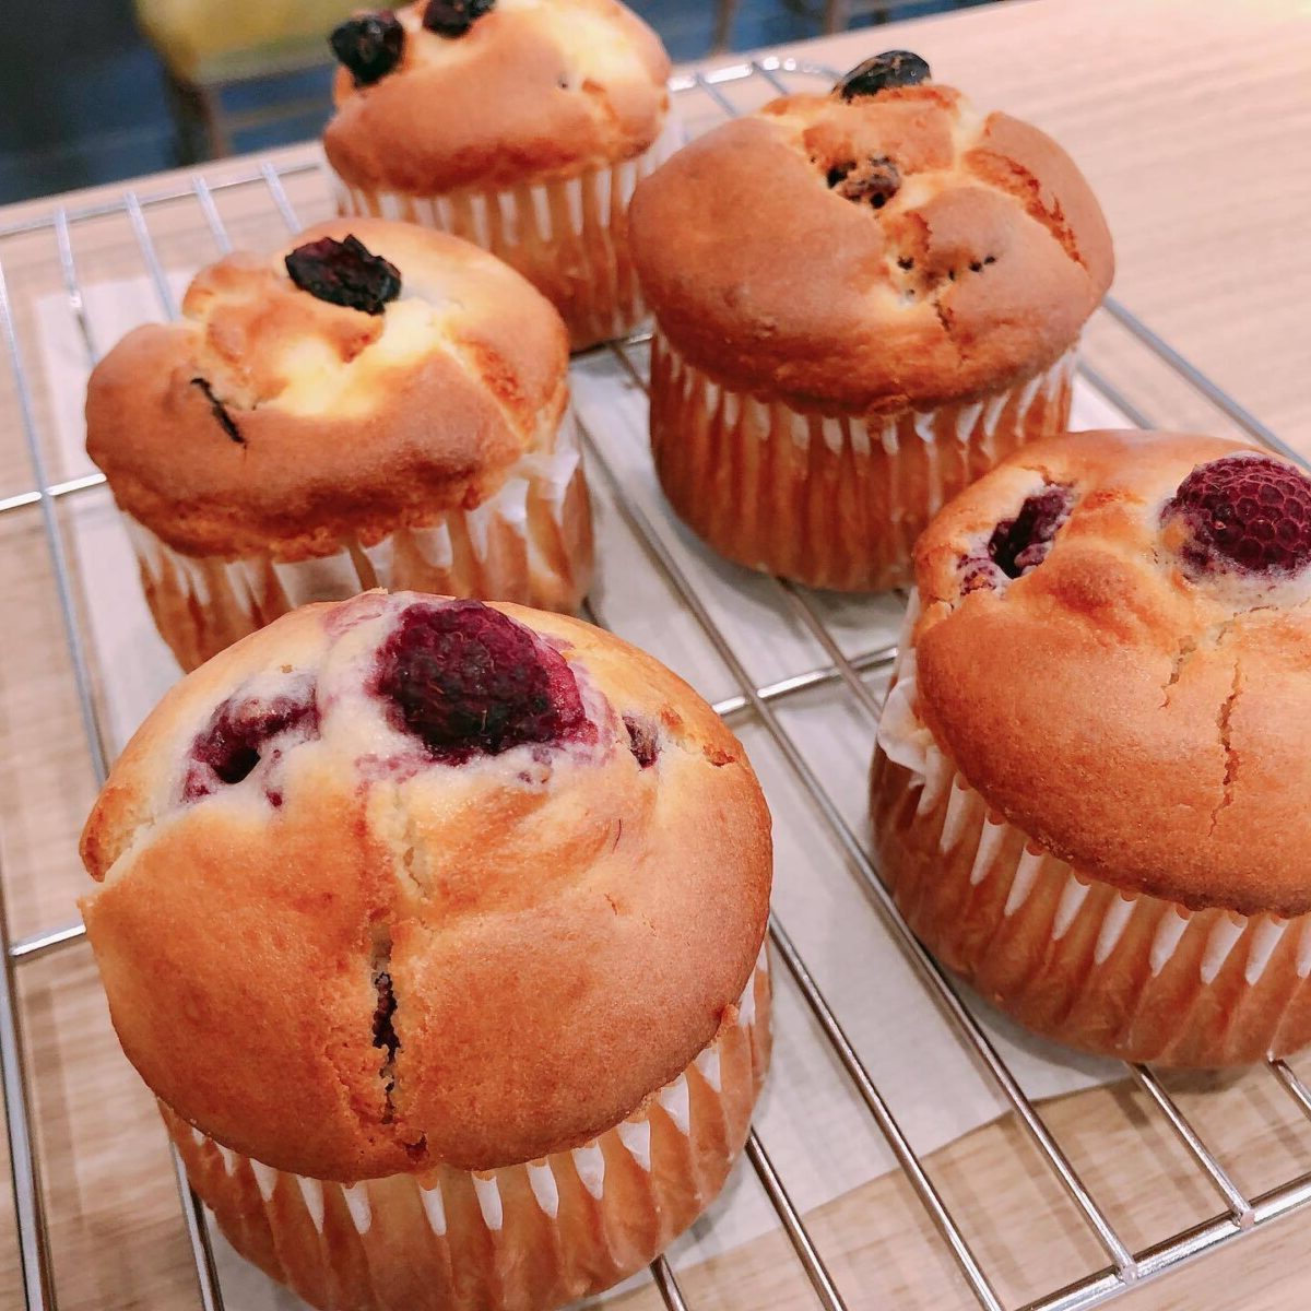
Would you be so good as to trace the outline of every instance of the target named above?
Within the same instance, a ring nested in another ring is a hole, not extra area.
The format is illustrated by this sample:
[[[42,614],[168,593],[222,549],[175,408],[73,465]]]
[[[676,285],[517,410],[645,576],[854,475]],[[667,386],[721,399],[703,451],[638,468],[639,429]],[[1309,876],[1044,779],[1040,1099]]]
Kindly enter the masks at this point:
[[[1183,556],[1194,572],[1238,565],[1286,574],[1311,564],[1311,479],[1269,455],[1200,464],[1162,518],[1186,524]]]

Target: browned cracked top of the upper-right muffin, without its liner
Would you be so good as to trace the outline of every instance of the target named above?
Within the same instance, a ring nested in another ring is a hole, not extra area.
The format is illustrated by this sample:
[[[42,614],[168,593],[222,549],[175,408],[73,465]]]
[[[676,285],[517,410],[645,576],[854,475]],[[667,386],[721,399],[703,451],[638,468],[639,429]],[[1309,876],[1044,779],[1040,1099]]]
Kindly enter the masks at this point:
[[[638,185],[629,220],[648,303],[694,366],[847,413],[1040,372],[1113,270],[1061,147],[906,51],[692,142]]]

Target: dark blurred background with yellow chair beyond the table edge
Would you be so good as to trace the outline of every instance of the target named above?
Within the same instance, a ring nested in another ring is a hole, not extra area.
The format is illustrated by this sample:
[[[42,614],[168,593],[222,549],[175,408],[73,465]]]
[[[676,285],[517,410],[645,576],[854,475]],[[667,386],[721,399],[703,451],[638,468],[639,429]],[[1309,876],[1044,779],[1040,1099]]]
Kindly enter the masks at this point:
[[[675,60],[981,3],[629,0]],[[316,136],[329,111],[326,33],[361,8],[47,0],[7,18],[0,205]]]

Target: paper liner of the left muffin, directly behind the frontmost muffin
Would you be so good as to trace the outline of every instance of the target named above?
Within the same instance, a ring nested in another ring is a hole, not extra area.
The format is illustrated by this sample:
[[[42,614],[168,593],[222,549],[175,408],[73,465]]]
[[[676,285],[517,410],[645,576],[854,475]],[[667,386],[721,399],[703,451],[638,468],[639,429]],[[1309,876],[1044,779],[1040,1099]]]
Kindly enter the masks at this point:
[[[370,587],[574,611],[591,579],[591,509],[577,423],[524,454],[493,496],[376,543],[346,538],[330,556],[187,556],[123,515],[160,635],[185,670],[313,600]]]

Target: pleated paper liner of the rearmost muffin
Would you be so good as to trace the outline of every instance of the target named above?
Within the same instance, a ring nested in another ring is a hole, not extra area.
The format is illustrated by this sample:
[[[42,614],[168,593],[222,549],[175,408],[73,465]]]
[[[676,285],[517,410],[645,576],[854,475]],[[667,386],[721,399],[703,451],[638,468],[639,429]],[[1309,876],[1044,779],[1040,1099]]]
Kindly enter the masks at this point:
[[[683,142],[671,113],[641,153],[574,177],[412,195],[334,181],[342,214],[439,228],[518,269],[564,316],[574,350],[632,332],[645,317],[628,256],[628,202]]]

